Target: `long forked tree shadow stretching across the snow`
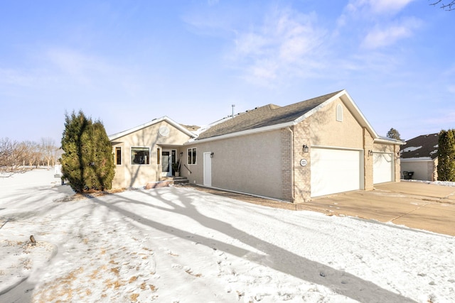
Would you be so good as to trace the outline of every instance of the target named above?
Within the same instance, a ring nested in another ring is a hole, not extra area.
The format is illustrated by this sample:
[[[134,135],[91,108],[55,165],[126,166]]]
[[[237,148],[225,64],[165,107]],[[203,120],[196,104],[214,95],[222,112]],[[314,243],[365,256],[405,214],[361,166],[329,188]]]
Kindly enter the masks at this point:
[[[414,302],[412,299],[403,297],[400,294],[395,294],[389,290],[384,290],[378,285],[375,285],[373,282],[363,280],[360,277],[351,275],[348,272],[336,270],[327,265],[323,265],[301,257],[300,255],[296,255],[295,253],[291,253],[279,246],[252,236],[245,231],[241,231],[240,229],[235,228],[235,226],[232,226],[232,224],[204,216],[203,214],[200,214],[200,212],[198,212],[196,207],[193,205],[193,199],[195,199],[194,192],[182,194],[181,191],[177,192],[178,189],[174,190],[176,192],[173,192],[173,196],[178,197],[178,201],[176,201],[177,203],[171,201],[170,199],[164,199],[164,197],[159,194],[159,191],[156,190],[143,192],[147,196],[159,199],[159,201],[170,206],[170,208],[152,204],[153,202],[141,202],[128,199],[124,196],[121,197],[120,203],[141,204],[149,206],[152,209],[170,211],[172,213],[188,216],[202,226],[224,233],[226,236],[235,238],[238,241],[245,243],[247,246],[261,250],[264,254],[266,254],[266,256],[232,244],[223,243],[214,238],[207,238],[198,234],[189,233],[188,231],[176,228],[175,226],[168,226],[166,224],[152,221],[144,216],[140,216],[138,213],[123,209],[122,207],[115,205],[116,203],[104,202],[100,199],[94,200],[97,204],[106,206],[112,211],[117,211],[119,214],[122,214],[122,216],[126,216],[127,218],[137,221],[140,224],[156,228],[159,231],[164,231],[185,241],[197,242],[204,246],[214,249],[216,248],[218,250],[225,251],[226,253],[236,255],[237,257],[245,258],[259,265],[266,265],[269,268],[279,270],[280,272],[284,272],[288,275],[293,275],[301,280],[312,282],[316,285],[323,285],[338,294],[350,297],[351,299],[355,299],[359,302]],[[200,199],[200,197],[197,197],[197,199]],[[181,204],[183,204],[183,206],[181,206]]]

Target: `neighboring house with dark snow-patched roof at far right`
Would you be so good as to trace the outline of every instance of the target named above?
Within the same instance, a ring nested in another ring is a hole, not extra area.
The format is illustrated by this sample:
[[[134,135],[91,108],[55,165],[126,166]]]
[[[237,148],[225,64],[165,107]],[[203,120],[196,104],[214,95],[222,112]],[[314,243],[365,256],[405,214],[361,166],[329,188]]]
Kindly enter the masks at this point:
[[[407,141],[400,150],[401,170],[412,172],[412,179],[436,181],[438,179],[439,133],[422,135]],[[403,175],[407,179],[407,176]]]

